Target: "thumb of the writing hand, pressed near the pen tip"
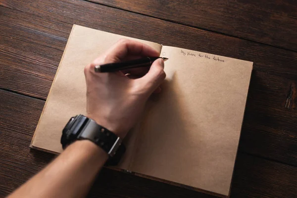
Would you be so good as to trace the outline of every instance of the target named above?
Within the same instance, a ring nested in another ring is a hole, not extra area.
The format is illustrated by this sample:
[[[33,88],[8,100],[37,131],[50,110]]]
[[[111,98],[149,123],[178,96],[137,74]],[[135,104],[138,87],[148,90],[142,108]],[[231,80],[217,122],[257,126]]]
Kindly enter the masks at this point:
[[[165,79],[164,60],[156,59],[150,66],[148,73],[140,78],[145,87],[152,93]]]

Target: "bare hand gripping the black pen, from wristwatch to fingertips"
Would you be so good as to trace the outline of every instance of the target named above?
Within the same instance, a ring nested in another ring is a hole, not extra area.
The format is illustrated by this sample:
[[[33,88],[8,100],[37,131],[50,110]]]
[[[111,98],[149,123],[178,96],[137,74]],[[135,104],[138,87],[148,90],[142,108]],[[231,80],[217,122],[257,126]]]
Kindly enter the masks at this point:
[[[112,73],[97,73],[96,65],[159,56],[159,52],[140,42],[122,39],[85,67],[87,113],[99,125],[124,138],[136,124],[148,97],[159,92],[166,77],[159,58],[150,68],[134,68]]]

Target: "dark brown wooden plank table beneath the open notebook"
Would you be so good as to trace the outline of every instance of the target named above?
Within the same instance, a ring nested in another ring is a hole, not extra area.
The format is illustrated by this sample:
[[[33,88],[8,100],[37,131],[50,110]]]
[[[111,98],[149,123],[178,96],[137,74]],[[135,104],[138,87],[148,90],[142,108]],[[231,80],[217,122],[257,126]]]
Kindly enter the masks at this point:
[[[0,0],[0,197],[53,155],[29,144],[72,24],[254,62],[232,198],[297,197],[295,0]],[[212,197],[103,169],[90,197]]]

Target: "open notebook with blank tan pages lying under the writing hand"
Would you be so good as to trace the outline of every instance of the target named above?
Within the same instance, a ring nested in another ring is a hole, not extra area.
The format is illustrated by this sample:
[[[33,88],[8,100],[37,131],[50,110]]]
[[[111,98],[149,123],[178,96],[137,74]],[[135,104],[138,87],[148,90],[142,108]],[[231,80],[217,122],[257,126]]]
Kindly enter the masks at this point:
[[[32,148],[62,151],[63,127],[86,115],[85,65],[121,38],[73,25]],[[252,62],[138,41],[169,58],[167,77],[126,137],[118,168],[228,197]]]

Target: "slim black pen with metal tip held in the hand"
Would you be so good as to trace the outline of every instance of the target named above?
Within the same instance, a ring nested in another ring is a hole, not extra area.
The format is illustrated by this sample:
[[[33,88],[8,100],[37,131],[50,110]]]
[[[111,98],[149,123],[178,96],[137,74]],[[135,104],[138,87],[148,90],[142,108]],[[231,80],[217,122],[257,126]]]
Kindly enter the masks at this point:
[[[114,62],[114,63],[107,63],[103,65],[96,65],[95,71],[96,72],[115,72],[124,69],[131,69],[136,67],[148,67],[150,66],[153,61],[158,58],[162,58],[164,61],[168,60],[165,57],[144,57],[135,60],[127,60],[123,62]]]

